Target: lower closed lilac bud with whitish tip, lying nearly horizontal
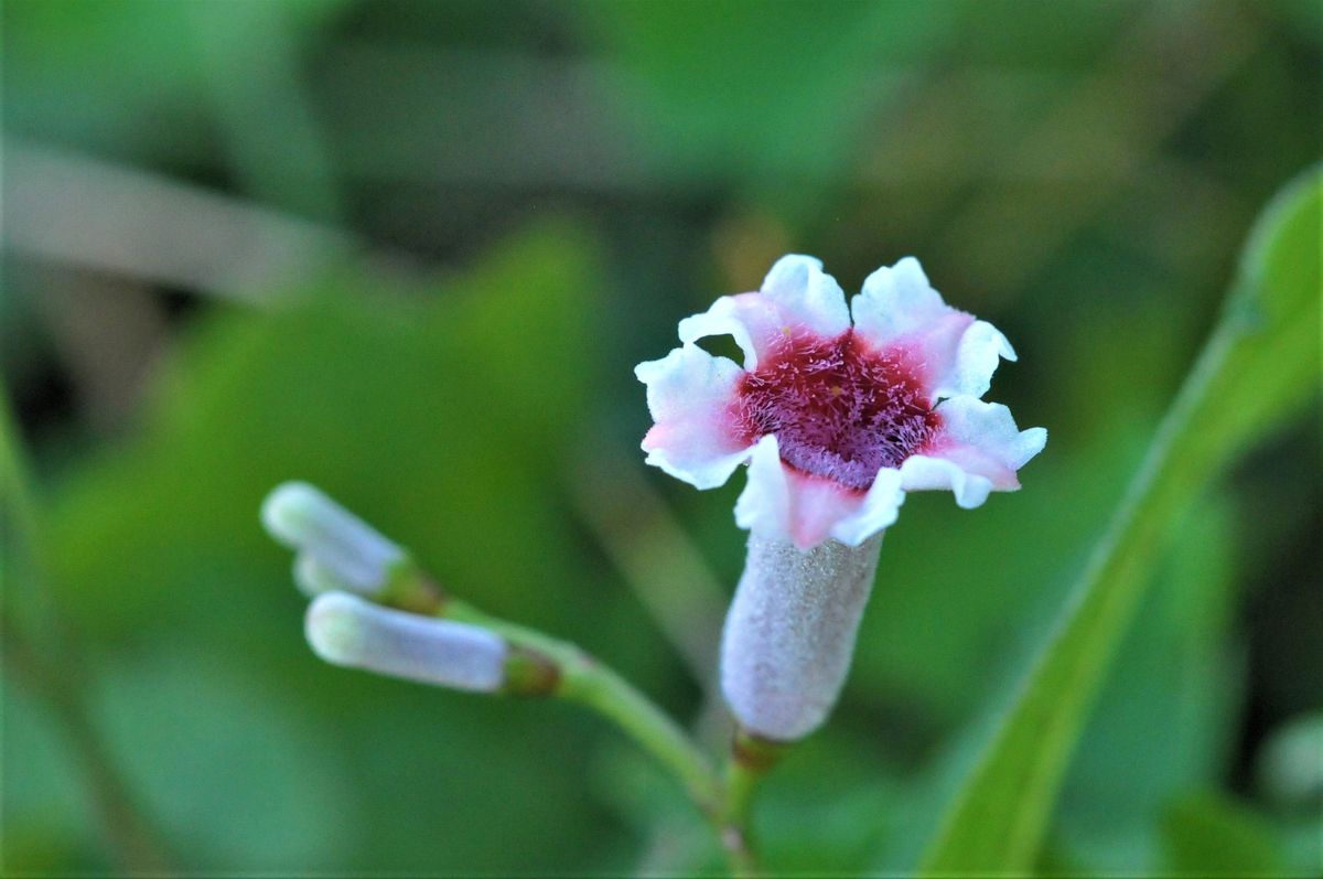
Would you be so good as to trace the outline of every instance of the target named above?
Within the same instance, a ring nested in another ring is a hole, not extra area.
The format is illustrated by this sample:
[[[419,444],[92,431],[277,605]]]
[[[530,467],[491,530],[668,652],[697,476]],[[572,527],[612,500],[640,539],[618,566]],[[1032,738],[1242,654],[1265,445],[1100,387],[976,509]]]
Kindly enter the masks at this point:
[[[463,622],[372,604],[347,592],[319,596],[304,631],[329,663],[474,692],[505,683],[505,639]]]

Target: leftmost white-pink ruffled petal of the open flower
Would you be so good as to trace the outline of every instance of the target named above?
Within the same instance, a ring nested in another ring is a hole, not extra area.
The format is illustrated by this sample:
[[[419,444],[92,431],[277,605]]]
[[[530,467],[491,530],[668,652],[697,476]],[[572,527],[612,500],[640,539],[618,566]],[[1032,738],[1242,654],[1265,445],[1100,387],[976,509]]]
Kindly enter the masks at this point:
[[[685,344],[634,368],[648,388],[654,424],[643,437],[647,463],[696,488],[714,488],[749,457],[732,429],[729,405],[741,369]]]

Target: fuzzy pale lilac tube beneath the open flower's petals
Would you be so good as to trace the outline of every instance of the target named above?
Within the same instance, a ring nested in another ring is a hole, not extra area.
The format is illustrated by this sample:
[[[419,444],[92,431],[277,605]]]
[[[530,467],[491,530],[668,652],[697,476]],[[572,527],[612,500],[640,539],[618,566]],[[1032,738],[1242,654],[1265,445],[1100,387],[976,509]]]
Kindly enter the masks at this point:
[[[849,671],[882,536],[799,549],[754,531],[721,641],[721,690],[741,727],[773,741],[827,719]]]

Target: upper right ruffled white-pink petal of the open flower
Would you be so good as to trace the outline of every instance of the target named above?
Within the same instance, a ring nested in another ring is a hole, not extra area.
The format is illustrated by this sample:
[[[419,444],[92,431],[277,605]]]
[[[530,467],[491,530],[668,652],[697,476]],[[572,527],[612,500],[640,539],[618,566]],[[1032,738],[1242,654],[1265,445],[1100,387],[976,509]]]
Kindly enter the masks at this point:
[[[1016,359],[996,327],[946,304],[914,257],[868,275],[851,310],[856,331],[869,344],[908,355],[934,402],[983,396],[999,360]]]

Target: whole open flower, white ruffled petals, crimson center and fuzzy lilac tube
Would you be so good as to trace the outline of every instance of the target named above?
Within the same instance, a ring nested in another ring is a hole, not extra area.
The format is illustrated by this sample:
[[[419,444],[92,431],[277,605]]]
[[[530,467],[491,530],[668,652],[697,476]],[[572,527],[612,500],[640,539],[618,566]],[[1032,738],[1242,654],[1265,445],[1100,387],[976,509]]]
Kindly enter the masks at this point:
[[[680,322],[681,346],[635,369],[655,425],[647,462],[699,488],[747,465],[736,522],[749,555],[726,617],[721,686],[742,729],[794,741],[849,670],[882,532],[908,491],[964,508],[1020,487],[1046,430],[986,402],[1011,344],[947,306],[917,259],[875,271],[847,304],[810,257]],[[737,364],[699,347],[729,335]]]

